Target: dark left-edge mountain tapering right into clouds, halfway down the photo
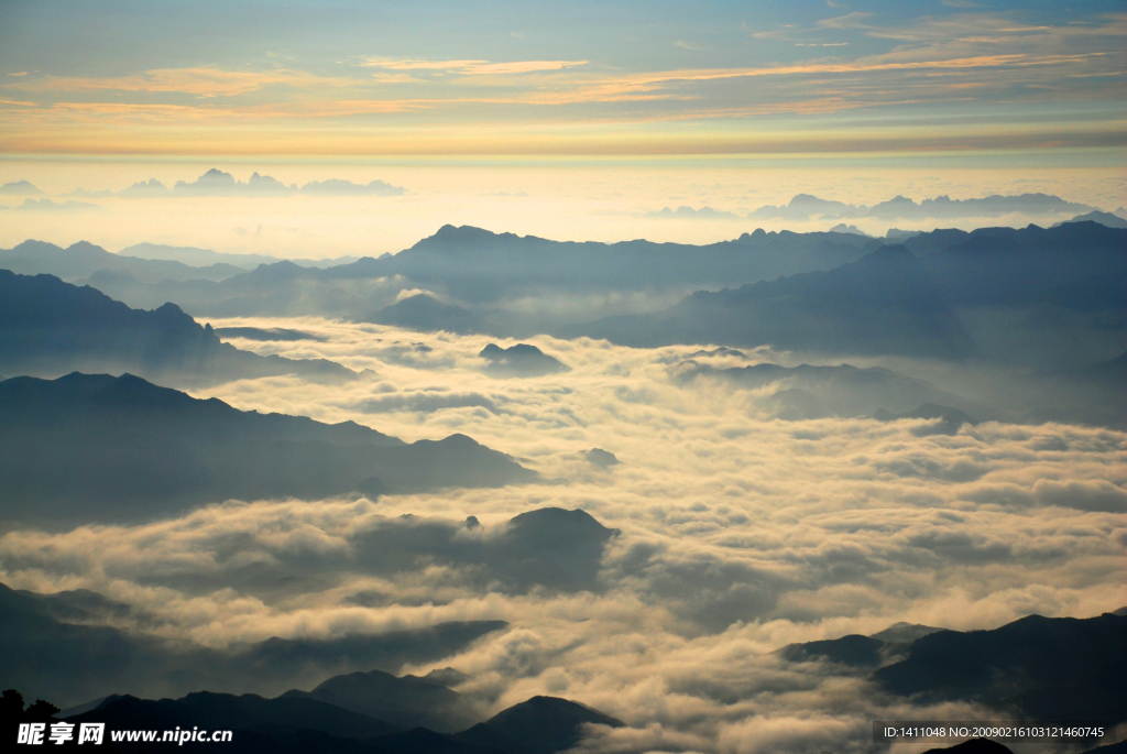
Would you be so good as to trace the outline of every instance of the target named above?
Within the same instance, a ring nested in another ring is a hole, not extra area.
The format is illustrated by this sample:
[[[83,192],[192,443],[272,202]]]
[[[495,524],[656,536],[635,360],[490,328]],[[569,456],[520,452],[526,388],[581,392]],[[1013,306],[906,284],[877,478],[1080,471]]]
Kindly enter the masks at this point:
[[[158,517],[229,498],[495,487],[535,474],[464,435],[406,445],[346,422],[239,411],[140,378],[0,383],[0,515]]]

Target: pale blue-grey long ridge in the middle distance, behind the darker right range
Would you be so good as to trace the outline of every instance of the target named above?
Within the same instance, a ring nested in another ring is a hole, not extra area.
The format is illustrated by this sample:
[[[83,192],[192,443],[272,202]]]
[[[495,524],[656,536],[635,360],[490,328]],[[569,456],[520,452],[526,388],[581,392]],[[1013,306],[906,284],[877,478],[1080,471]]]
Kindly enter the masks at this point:
[[[428,323],[427,317],[434,312],[400,312],[398,308],[382,314],[373,312],[394,304],[399,292],[411,287],[426,287],[471,304],[544,291],[582,294],[721,287],[832,269],[858,259],[877,245],[849,233],[789,231],[756,231],[709,246],[644,240],[578,243],[444,225],[399,254],[385,254],[379,259],[365,257],[326,269],[279,261],[221,282],[167,280],[150,284],[99,277],[98,285],[131,305],[149,308],[172,301],[187,311],[212,317],[382,317],[396,318],[388,323],[443,329],[451,323]],[[544,331],[530,325],[526,313],[515,322],[504,311],[496,317],[486,317],[490,312],[471,313],[485,317],[488,331],[497,335],[523,337]]]

